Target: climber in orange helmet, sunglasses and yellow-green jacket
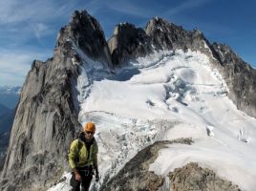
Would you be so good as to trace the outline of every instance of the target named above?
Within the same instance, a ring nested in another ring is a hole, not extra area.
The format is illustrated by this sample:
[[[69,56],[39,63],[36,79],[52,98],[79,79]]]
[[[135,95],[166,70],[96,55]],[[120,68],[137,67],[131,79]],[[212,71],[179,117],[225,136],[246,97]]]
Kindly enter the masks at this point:
[[[79,191],[80,184],[82,189],[89,190],[94,174],[96,181],[99,180],[95,132],[95,123],[88,122],[84,125],[83,132],[80,133],[79,137],[71,143],[68,158],[73,170],[70,181],[73,191]]]

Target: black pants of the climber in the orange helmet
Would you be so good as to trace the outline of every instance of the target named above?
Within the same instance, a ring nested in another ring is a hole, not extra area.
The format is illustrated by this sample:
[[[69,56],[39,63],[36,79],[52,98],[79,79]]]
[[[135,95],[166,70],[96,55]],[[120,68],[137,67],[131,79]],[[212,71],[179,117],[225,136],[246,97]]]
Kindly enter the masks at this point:
[[[77,181],[75,180],[75,173],[72,173],[72,178],[71,178],[71,186],[72,186],[72,191],[80,191],[80,184],[81,184],[81,191],[88,191],[91,181],[93,179],[93,168],[92,166],[86,166],[82,168],[76,168],[78,173],[80,174],[82,180]]]

